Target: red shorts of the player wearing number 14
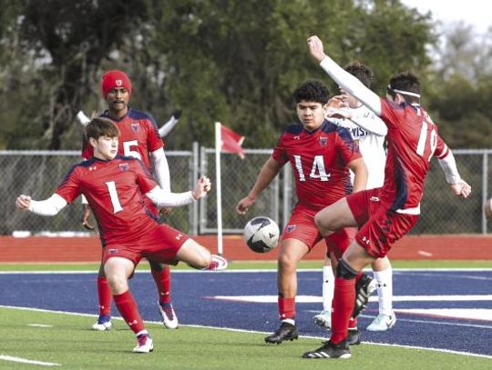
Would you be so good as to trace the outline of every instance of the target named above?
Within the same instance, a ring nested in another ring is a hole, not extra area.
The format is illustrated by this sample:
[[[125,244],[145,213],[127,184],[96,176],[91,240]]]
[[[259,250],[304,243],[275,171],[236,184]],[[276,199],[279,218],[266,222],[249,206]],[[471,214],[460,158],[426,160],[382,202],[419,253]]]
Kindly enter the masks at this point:
[[[283,228],[281,241],[285,239],[297,239],[309,247],[311,251],[323,236],[314,224],[314,215],[317,210],[307,208],[305,205],[296,205],[292,211],[289,223]]]

